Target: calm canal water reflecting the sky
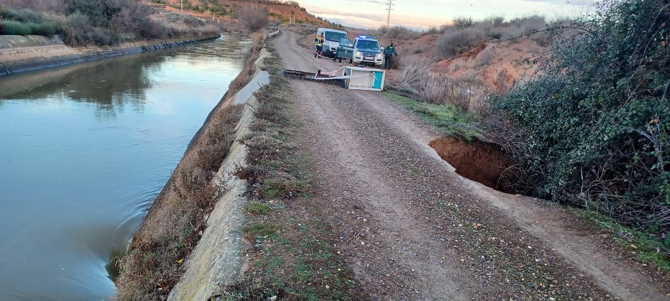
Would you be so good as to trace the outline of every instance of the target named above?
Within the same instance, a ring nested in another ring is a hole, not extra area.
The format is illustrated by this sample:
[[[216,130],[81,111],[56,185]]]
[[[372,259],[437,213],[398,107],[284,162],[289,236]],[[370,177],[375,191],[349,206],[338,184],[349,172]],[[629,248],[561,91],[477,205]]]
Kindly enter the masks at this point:
[[[0,78],[0,300],[111,300],[109,263],[250,47],[230,35]]]

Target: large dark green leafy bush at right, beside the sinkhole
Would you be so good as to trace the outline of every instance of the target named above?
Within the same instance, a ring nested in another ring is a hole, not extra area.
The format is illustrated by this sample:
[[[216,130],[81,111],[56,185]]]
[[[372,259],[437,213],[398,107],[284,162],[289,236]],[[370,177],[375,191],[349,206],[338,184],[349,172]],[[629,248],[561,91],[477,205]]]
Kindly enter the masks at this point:
[[[605,1],[556,43],[537,81],[494,102],[518,127],[507,145],[519,191],[670,231],[665,3]]]

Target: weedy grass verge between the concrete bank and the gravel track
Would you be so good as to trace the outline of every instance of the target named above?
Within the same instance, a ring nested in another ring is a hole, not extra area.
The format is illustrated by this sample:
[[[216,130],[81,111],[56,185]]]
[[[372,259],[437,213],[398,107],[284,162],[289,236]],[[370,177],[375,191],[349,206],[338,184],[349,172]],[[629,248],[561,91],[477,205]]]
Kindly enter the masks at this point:
[[[351,300],[356,284],[328,243],[330,229],[309,202],[309,163],[295,144],[299,124],[292,116],[289,83],[281,77],[281,58],[269,48],[270,84],[255,94],[258,104],[248,165],[239,177],[249,181],[250,222],[243,231],[252,245],[249,268],[225,288],[223,300]]]

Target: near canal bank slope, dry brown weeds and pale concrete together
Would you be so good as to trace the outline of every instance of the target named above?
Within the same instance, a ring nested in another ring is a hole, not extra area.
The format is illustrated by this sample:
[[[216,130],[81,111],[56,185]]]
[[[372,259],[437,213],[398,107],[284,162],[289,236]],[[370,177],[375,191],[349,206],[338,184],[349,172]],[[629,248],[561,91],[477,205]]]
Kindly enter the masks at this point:
[[[253,118],[251,92],[267,83],[262,48],[262,39],[255,40],[247,65],[192,140],[119,261],[118,300],[206,300],[237,278],[247,184],[232,171],[245,164],[245,146],[238,141]]]

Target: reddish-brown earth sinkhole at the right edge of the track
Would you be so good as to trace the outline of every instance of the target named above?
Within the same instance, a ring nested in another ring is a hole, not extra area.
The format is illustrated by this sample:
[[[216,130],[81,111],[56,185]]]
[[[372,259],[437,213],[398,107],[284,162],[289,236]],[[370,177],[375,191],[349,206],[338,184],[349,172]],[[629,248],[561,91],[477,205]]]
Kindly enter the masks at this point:
[[[506,191],[514,181],[507,169],[513,162],[496,144],[445,137],[432,140],[429,145],[456,173],[472,181],[500,191]]]

